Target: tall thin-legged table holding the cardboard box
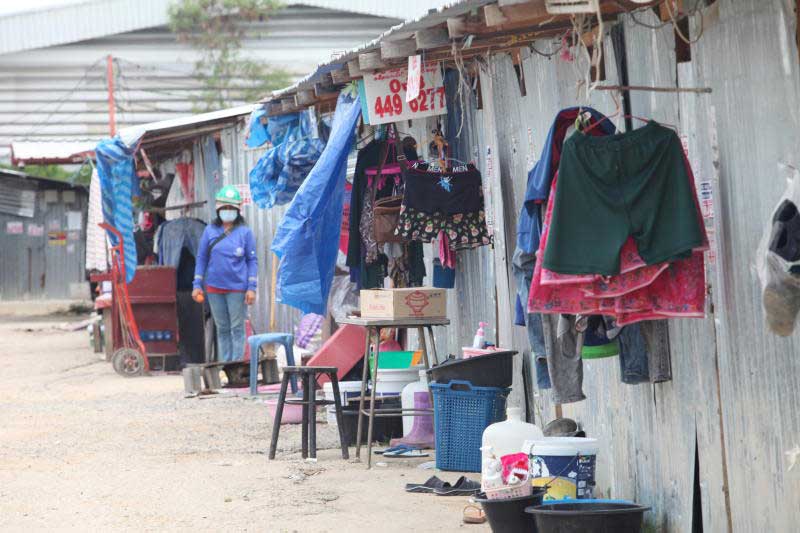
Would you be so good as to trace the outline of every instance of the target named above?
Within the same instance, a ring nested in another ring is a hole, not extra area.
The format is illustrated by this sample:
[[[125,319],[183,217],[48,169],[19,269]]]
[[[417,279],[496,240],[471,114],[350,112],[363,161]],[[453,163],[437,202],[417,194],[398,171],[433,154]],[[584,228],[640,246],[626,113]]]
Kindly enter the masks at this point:
[[[447,326],[450,324],[448,318],[362,318],[347,317],[339,321],[340,324],[352,324],[367,328],[367,339],[364,347],[364,371],[361,376],[361,397],[358,403],[358,427],[356,429],[356,458],[361,458],[361,430],[363,427],[363,417],[369,417],[367,426],[367,468],[372,467],[372,426],[376,416],[430,416],[433,412],[433,398],[431,398],[431,409],[376,409],[375,391],[378,388],[378,359],[380,357],[381,330],[382,329],[416,329],[419,334],[420,348],[422,349],[422,360],[426,369],[431,368],[431,358],[433,364],[438,363],[436,355],[436,341],[433,337],[433,326]],[[425,341],[425,331],[430,338],[431,352],[428,353],[428,343]],[[364,408],[364,400],[369,379],[369,348],[372,339],[375,339],[375,365],[372,368],[372,390],[370,393],[369,411]],[[430,393],[430,389],[428,390]]]

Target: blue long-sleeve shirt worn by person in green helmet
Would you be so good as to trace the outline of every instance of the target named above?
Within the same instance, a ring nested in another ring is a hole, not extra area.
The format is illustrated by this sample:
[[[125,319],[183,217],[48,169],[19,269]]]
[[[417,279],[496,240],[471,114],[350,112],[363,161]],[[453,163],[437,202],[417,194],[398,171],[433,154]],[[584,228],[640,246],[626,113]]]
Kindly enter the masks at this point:
[[[194,269],[194,288],[210,286],[230,291],[256,290],[258,258],[253,232],[245,225],[235,226],[231,234],[211,250],[209,245],[223,234],[222,226],[209,224],[203,231]]]

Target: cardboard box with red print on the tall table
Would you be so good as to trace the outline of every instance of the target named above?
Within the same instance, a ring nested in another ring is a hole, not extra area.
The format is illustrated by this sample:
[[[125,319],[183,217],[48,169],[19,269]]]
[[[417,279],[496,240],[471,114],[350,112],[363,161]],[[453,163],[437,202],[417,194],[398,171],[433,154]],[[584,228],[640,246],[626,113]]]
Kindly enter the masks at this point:
[[[415,287],[361,291],[363,318],[446,318],[446,289]]]

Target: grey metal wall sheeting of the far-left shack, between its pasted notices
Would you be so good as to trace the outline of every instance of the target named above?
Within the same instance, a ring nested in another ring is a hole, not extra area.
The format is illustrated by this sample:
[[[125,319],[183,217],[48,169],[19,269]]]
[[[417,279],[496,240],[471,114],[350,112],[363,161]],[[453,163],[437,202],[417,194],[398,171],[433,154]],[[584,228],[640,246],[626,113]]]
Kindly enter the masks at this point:
[[[15,186],[25,187],[19,180]],[[78,292],[86,289],[88,193],[82,189],[31,189],[36,190],[32,218],[0,213],[0,300],[88,298],[88,289]],[[46,201],[46,194],[52,201]],[[69,212],[80,213],[80,229],[70,229]],[[9,223],[22,224],[22,234],[9,233]],[[64,232],[66,239],[50,240],[49,231]]]

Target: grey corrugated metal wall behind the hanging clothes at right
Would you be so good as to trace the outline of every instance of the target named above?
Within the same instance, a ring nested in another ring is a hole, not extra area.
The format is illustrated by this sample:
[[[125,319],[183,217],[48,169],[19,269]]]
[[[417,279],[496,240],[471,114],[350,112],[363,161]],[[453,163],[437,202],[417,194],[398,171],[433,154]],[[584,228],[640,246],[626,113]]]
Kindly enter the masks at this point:
[[[706,11],[704,34],[692,46],[691,61],[680,64],[669,26],[649,29],[622,18],[631,84],[714,90],[710,95],[634,93],[631,102],[635,115],[677,128],[686,138],[697,180],[713,186],[718,243],[708,277],[713,312],[710,306],[706,319],[669,321],[671,382],[624,385],[616,359],[587,362],[588,399],[564,406],[564,415],[601,441],[599,494],[652,506],[653,531],[699,527],[696,504],[703,531],[796,531],[800,475],[787,473],[784,453],[800,444],[800,332],[779,339],[766,331],[753,267],[761,233],[785,185],[778,164],[800,166],[800,56],[791,2],[717,2]],[[647,13],[639,19],[657,22]],[[537,48],[544,50],[547,43]],[[605,53],[607,81],[616,83],[608,40]],[[456,143],[457,157],[475,159],[484,176],[487,153],[496,155],[499,173],[491,186],[499,190],[491,192],[503,201],[494,216],[502,217],[507,229],[504,247],[459,255],[457,289],[448,302],[453,326],[439,338],[449,351],[469,342],[478,320],[496,326],[510,314],[498,302],[513,302],[513,294],[498,290],[513,290],[513,280],[499,278],[508,276],[527,171],[556,112],[578,103],[606,113],[615,109],[608,93],[596,92],[590,102],[577,100],[573,66],[558,58],[523,52],[521,72],[524,95],[511,57],[490,58],[481,76],[483,109],[468,114]],[[431,124],[420,122],[408,129],[424,146]],[[259,153],[238,148],[240,132],[228,130],[224,138],[226,150],[235,154],[226,179],[244,182]],[[263,253],[282,214],[281,209],[248,212]],[[267,265],[261,290],[268,294],[271,261],[260,260]],[[256,314],[266,323],[268,300],[262,295],[261,302]],[[277,309],[278,328],[290,328],[296,315],[281,305]],[[528,349],[521,328],[509,331],[501,323],[497,334],[514,348]],[[549,393],[537,395],[536,409],[540,422],[555,416]]]

